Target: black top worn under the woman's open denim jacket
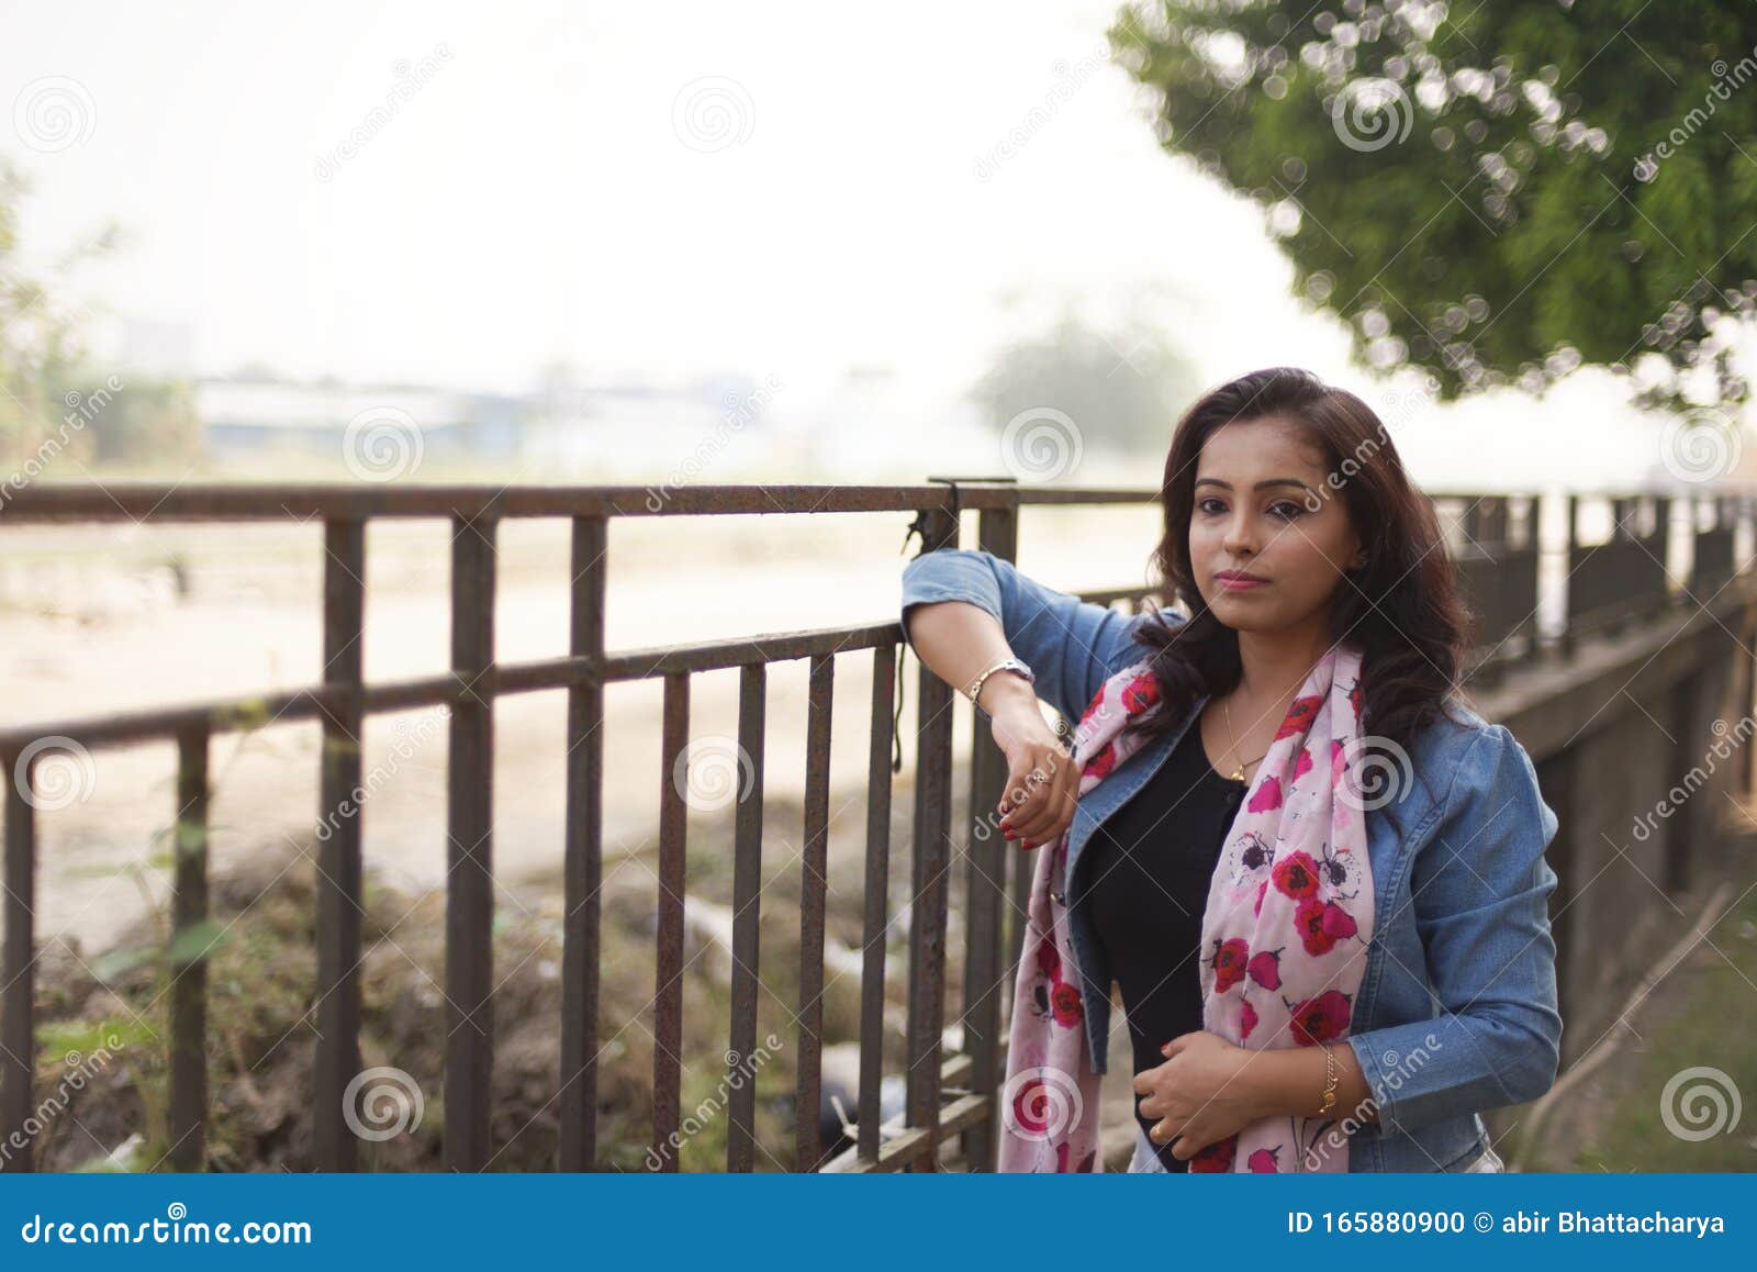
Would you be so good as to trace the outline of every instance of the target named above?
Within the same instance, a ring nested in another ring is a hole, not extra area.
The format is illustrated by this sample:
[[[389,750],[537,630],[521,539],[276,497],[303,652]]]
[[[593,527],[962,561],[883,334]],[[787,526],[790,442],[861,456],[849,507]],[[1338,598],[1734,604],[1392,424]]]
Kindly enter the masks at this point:
[[[1214,771],[1200,722],[1147,784],[1093,833],[1086,896],[1093,928],[1123,986],[1135,1073],[1165,1063],[1160,1047],[1202,1028],[1202,914],[1221,843],[1247,782]],[[1086,856],[1082,854],[1082,856]],[[1135,1103],[1146,1096],[1135,1096]],[[1142,1131],[1158,1117],[1142,1117]],[[1161,1144],[1167,1170],[1188,1170]]]

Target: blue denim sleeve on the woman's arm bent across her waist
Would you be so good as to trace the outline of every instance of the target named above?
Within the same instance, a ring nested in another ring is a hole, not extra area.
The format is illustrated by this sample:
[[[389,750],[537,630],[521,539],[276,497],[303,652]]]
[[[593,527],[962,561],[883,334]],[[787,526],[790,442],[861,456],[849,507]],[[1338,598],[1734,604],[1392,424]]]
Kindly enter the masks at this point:
[[[1388,1131],[1536,1100],[1560,1061],[1555,812],[1506,726],[1483,727],[1455,771],[1409,882],[1441,1010],[1348,1038]]]

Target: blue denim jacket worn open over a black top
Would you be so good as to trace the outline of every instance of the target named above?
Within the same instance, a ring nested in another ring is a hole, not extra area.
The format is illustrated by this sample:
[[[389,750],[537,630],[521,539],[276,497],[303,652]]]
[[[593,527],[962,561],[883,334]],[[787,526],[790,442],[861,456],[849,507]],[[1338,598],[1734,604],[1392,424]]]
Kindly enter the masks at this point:
[[[1044,587],[989,552],[949,548],[910,560],[905,624],[910,606],[928,601],[968,601],[993,613],[1037,675],[1037,696],[1070,724],[1107,676],[1149,652],[1135,641],[1147,615]],[[1163,613],[1182,622],[1181,613]],[[1205,705],[1202,697],[1177,727],[1082,796],[1068,828],[1063,893],[1072,898],[1074,961],[1100,1073],[1112,975],[1082,905],[1084,849]],[[1560,1061],[1548,905],[1557,877],[1544,861],[1557,817],[1515,736],[1462,701],[1448,706],[1462,724],[1423,726],[1407,747],[1397,796],[1367,808],[1374,933],[1348,1044],[1377,1123],[1348,1123],[1349,1170],[1481,1168],[1490,1140],[1479,1110],[1536,1100],[1555,1082]]]

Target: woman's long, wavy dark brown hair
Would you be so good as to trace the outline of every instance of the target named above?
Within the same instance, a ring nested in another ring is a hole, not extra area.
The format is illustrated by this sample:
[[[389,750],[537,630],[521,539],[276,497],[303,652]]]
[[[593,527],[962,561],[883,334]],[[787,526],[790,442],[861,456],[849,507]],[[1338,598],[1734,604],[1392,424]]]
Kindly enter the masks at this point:
[[[1270,367],[1239,376],[1191,406],[1165,459],[1165,536],[1153,571],[1167,603],[1181,601],[1188,622],[1153,610],[1137,640],[1153,650],[1160,705],[1130,727],[1149,740],[1182,720],[1204,694],[1226,694],[1240,678],[1239,632],[1202,601],[1189,562],[1189,515],[1197,459],[1209,436],[1233,420],[1283,418],[1304,425],[1323,450],[1330,494],[1348,506],[1367,560],[1351,569],[1330,604],[1330,641],[1362,647],[1362,733],[1409,748],[1416,731],[1444,717],[1448,696],[1465,701],[1458,671],[1472,615],[1458,592],[1434,504],[1416,490],[1372,408],[1309,371]],[[1341,487],[1337,492],[1335,487]],[[1307,502],[1314,497],[1307,495]]]

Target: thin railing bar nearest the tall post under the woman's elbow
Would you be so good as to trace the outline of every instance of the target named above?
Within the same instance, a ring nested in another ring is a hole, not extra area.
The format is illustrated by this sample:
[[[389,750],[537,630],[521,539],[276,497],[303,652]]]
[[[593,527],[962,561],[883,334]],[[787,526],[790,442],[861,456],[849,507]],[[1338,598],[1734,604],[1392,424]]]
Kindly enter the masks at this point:
[[[891,712],[896,703],[896,647],[873,650],[871,750],[866,764],[866,914],[861,928],[861,1091],[863,1161],[878,1160],[878,1095],[884,1082],[884,965],[891,887]]]

